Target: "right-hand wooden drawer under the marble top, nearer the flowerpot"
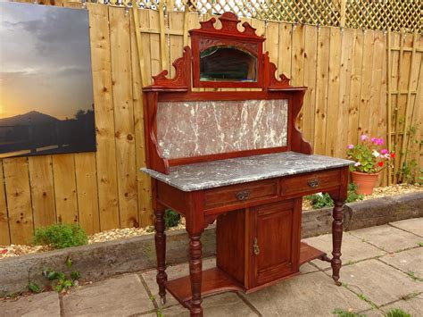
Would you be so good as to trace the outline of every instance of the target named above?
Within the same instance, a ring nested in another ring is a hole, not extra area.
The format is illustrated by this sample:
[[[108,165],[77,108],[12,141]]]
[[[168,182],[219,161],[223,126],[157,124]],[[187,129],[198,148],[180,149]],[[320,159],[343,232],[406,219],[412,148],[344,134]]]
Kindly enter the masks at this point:
[[[319,193],[341,184],[341,170],[328,170],[295,175],[280,180],[281,196]]]

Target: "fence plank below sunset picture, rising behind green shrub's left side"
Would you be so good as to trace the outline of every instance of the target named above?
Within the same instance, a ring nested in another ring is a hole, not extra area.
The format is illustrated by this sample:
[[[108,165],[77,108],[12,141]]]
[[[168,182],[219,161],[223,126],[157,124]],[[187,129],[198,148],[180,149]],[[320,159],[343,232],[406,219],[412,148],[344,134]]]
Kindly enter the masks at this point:
[[[29,157],[29,179],[34,227],[56,222],[52,156]]]

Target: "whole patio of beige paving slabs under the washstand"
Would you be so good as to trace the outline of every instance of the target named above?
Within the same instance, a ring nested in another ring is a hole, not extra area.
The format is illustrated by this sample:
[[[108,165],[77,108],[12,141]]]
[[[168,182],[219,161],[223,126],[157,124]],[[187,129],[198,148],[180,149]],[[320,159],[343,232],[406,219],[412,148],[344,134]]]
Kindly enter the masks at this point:
[[[252,294],[227,292],[203,298],[204,316],[330,316],[336,308],[383,316],[402,308],[423,315],[423,219],[344,233],[342,287],[323,262],[304,264],[301,275]],[[330,253],[330,235],[306,239]],[[215,263],[204,259],[203,268]],[[170,279],[187,274],[187,263],[169,267]],[[83,272],[82,272],[83,273]],[[124,274],[73,288],[0,302],[3,316],[189,316],[168,294],[159,303],[155,271]]]

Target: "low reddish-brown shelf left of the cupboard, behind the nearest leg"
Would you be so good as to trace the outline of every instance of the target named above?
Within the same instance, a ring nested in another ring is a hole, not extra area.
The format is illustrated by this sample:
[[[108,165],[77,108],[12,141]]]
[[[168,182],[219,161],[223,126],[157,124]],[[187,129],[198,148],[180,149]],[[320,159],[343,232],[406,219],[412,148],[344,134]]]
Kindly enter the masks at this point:
[[[178,299],[180,304],[183,304],[185,307],[189,306],[191,299],[191,281],[189,275],[183,278],[169,280],[165,283],[165,286],[170,294]],[[203,271],[202,296],[228,290],[245,290],[245,288],[219,268]]]

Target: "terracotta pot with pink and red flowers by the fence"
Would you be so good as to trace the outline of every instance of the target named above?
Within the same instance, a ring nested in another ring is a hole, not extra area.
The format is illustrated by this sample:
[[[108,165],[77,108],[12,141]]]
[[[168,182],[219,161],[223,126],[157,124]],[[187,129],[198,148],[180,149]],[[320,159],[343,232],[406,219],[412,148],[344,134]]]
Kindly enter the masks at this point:
[[[347,156],[354,165],[350,166],[352,181],[357,185],[357,193],[371,195],[377,183],[380,171],[392,165],[393,152],[382,148],[383,138],[369,138],[361,135],[359,144],[347,146]]]

